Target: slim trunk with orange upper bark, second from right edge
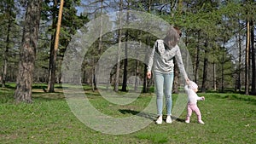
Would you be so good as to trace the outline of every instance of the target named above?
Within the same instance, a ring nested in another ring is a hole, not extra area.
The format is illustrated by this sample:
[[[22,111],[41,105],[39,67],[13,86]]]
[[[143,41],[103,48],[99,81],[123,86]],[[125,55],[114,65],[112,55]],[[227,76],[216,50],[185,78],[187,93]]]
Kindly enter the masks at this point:
[[[250,50],[250,23],[247,20],[247,44],[246,44],[246,72],[245,72],[245,94],[249,95],[249,50]]]

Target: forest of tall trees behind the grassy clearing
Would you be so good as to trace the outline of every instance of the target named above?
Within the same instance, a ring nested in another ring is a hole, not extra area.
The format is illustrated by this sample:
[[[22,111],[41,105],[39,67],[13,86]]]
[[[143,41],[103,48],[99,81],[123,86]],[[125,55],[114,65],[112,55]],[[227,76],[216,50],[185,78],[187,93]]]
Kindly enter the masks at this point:
[[[31,4],[39,8],[35,9],[38,10],[38,14],[33,11],[28,13],[31,10],[29,8],[34,8],[30,7]],[[35,64],[31,73],[32,83],[51,84],[53,87],[55,83],[61,83],[61,62],[64,53],[72,36],[80,28],[102,14],[136,10],[159,16],[170,25],[181,29],[183,43],[189,50],[193,64],[194,72],[190,79],[200,85],[202,92],[207,90],[223,92],[231,89],[247,95],[256,94],[254,37],[256,2],[254,0],[65,0],[56,49],[55,39],[60,4],[59,0],[3,0],[0,2],[2,87],[5,87],[7,82],[18,84],[20,81],[17,77],[20,70],[19,62],[27,58],[22,58],[24,53],[21,50],[26,45],[24,33],[26,28],[34,27],[31,25],[32,21],[37,20],[35,18],[39,20],[39,27],[38,32],[34,33],[35,37],[31,39],[36,40],[37,46],[32,50],[34,57],[25,61],[34,61]],[[32,14],[35,15],[32,16]],[[32,16],[32,19],[26,19],[29,16]],[[96,89],[96,61],[109,46],[125,41],[140,41],[153,48],[155,38],[147,32],[132,29],[117,30],[102,35],[84,56],[81,69],[83,74],[77,78],[82,84],[91,84],[92,89]],[[140,61],[121,60],[113,68],[110,76],[111,84],[116,91],[119,87],[126,91],[127,78],[134,75],[142,79],[143,92],[147,92],[153,82],[145,77],[145,71],[146,66]],[[175,73],[176,84],[173,91],[177,92],[178,71]],[[29,81],[29,78],[27,77],[26,80]],[[54,89],[46,91],[54,92]]]

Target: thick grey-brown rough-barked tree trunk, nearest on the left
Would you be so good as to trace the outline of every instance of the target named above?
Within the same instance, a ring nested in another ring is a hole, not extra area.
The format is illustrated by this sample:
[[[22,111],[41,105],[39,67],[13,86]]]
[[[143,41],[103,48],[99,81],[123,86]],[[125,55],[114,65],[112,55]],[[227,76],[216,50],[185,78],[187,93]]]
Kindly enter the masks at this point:
[[[30,0],[27,4],[20,48],[19,74],[15,88],[15,101],[31,103],[32,78],[38,43],[41,0]]]

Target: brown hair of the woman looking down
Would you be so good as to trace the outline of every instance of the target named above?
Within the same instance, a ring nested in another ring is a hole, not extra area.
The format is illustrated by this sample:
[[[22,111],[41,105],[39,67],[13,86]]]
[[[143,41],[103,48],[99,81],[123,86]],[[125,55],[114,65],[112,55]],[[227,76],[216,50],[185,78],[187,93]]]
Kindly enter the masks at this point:
[[[179,33],[178,33],[179,32]],[[175,45],[177,44],[179,38],[180,38],[180,30],[176,27],[171,27],[167,33],[166,33],[166,37],[164,37],[164,42],[165,45],[168,46],[167,49],[172,49],[173,47],[175,47]]]

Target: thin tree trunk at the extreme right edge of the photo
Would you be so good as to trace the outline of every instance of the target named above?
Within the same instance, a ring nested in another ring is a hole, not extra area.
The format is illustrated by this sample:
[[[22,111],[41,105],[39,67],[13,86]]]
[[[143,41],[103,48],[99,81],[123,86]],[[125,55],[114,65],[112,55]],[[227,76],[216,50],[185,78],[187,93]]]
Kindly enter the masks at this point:
[[[254,48],[254,25],[253,20],[250,21],[251,29],[251,49],[252,49],[252,94],[256,95],[256,70],[255,70],[255,48]]]

